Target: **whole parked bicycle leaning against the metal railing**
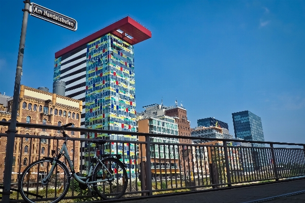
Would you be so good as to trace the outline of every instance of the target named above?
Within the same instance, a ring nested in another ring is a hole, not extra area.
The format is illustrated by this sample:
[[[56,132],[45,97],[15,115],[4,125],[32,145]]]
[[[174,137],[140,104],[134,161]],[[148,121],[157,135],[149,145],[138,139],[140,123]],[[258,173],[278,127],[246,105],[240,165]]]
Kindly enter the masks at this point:
[[[65,127],[71,125],[72,123],[68,123],[62,126],[62,134],[66,140],[62,148],[57,149],[57,155],[56,150],[51,150],[53,157],[44,157],[29,164],[21,174],[18,186],[25,201],[30,203],[60,201],[70,188],[71,175],[79,183],[80,189],[88,189],[88,192],[93,195],[97,194],[103,199],[115,199],[124,195],[128,185],[127,166],[119,160],[121,158],[119,154],[104,154],[99,158],[96,147],[94,156],[90,158],[88,174],[81,177],[79,173],[75,173],[67,149],[69,136],[65,133]],[[90,142],[104,145],[107,141],[93,140]],[[71,172],[67,165],[59,160],[62,156],[66,158]]]

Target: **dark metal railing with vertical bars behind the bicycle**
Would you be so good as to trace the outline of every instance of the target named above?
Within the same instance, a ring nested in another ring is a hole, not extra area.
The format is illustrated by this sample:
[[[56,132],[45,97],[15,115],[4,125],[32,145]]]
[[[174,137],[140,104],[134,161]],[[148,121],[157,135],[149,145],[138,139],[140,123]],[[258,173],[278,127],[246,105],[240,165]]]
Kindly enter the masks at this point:
[[[2,128],[9,122],[0,121]],[[21,128],[51,129],[55,134],[58,126],[17,123]],[[110,135],[134,135],[144,137],[145,141],[110,140],[109,144],[99,147],[100,154],[121,154],[128,171],[128,187],[124,197],[155,195],[159,193],[184,192],[240,185],[278,181],[287,178],[305,176],[305,144],[254,142],[229,139],[207,139],[179,136],[179,139],[202,140],[205,143],[181,144],[176,141],[167,143],[150,142],[150,138],[177,138],[165,134],[150,134],[128,131],[96,130],[67,127],[67,131],[82,131]],[[0,133],[0,146],[4,146],[7,133]],[[111,137],[109,137],[111,138]],[[99,139],[99,138],[98,138]],[[31,162],[50,156],[51,150],[60,148],[64,138],[57,136],[37,136],[16,134],[12,174],[6,174],[0,162],[0,176],[11,176],[14,200],[21,202],[18,192],[18,178],[24,168]],[[86,174],[87,162],[94,146],[89,146],[92,139],[69,138],[68,150],[75,171]],[[211,142],[206,142],[211,141]],[[245,146],[233,146],[232,142],[245,143]],[[265,144],[265,147],[255,147]],[[269,146],[267,146],[269,145]],[[275,145],[277,147],[275,147]],[[283,147],[295,146],[293,148]],[[5,147],[0,148],[5,155]],[[1,159],[1,156],[0,156]],[[43,174],[43,172],[41,173]],[[2,180],[2,177],[0,177]],[[38,186],[29,186],[33,192],[41,192]],[[1,187],[0,187],[1,188]],[[0,189],[1,191],[1,189]],[[85,201],[98,199],[81,190],[73,179],[65,199],[69,201]],[[71,200],[72,199],[72,200]]]

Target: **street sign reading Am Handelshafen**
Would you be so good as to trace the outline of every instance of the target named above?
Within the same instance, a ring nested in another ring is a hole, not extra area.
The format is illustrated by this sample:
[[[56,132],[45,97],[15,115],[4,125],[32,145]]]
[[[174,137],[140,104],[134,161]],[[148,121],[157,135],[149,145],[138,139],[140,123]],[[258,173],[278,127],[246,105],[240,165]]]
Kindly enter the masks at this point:
[[[30,15],[75,31],[77,22],[73,18],[57,13],[38,4],[32,3]]]

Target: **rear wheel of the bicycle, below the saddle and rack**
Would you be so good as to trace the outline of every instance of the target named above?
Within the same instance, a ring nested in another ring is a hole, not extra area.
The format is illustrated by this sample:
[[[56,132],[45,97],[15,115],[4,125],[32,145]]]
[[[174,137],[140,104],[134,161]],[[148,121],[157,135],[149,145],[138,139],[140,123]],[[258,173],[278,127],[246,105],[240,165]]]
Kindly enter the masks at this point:
[[[113,180],[96,183],[94,185],[95,191],[103,199],[116,199],[123,196],[128,185],[125,165],[115,158],[106,158],[102,162],[111,173]],[[92,181],[110,178],[106,168],[99,162],[94,168]]]

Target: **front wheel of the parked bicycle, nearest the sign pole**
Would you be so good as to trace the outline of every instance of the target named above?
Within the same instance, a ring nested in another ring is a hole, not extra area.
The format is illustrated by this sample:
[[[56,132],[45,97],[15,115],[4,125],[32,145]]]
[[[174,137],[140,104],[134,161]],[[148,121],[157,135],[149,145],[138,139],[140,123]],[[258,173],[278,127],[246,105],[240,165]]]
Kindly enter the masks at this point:
[[[40,159],[28,165],[19,179],[19,189],[22,198],[30,203],[56,203],[68,192],[70,173],[62,162],[56,162],[49,179],[53,158]]]

